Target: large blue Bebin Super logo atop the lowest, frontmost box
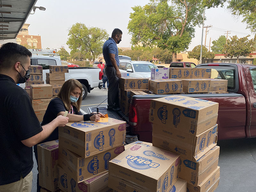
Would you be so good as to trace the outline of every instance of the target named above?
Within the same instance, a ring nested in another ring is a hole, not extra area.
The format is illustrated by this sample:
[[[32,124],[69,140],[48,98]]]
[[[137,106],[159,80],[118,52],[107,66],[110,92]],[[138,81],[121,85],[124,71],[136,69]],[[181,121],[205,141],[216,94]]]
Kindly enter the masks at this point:
[[[139,170],[145,170],[145,169],[150,169],[150,168],[156,168],[160,164],[152,162],[151,159],[141,157],[141,156],[131,156],[128,155],[126,156],[127,159],[127,164],[134,168],[134,169],[139,169]]]

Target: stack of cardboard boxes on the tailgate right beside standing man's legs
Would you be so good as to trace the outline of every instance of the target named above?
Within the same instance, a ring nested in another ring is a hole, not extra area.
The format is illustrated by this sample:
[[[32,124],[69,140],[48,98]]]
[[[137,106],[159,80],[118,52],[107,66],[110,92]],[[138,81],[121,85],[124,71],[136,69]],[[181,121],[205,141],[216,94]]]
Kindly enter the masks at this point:
[[[119,106],[126,116],[129,116],[130,101],[132,98],[131,91],[144,91],[147,94],[148,82],[149,80],[147,78],[119,78]]]

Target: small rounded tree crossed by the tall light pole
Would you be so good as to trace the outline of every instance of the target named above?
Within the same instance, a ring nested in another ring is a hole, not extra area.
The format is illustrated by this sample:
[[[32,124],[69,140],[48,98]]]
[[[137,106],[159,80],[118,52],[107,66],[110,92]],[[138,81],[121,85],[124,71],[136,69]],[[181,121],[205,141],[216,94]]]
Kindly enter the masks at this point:
[[[201,45],[197,45],[192,49],[192,51],[188,52],[188,58],[197,59],[197,64],[199,64],[200,53],[201,53]],[[207,48],[203,45],[202,59],[213,59],[214,57],[215,57],[215,54],[213,52],[208,51]]]

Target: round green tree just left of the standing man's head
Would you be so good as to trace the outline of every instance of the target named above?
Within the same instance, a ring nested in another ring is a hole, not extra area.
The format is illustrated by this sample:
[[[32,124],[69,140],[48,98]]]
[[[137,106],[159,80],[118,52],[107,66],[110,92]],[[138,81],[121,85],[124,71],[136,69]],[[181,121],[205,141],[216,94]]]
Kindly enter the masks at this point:
[[[72,25],[68,31],[68,36],[67,45],[75,52],[78,50],[78,59],[81,59],[80,53],[82,53],[92,62],[102,54],[102,46],[108,39],[108,33],[105,29],[88,28],[83,23]]]

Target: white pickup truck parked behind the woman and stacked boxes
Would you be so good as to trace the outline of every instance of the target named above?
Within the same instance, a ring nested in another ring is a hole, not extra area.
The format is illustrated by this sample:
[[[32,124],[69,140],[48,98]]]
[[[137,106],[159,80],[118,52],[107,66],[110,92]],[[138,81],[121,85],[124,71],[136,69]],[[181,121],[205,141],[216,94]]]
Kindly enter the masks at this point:
[[[45,83],[46,75],[49,73],[49,65],[61,65],[59,56],[44,56],[44,55],[32,55],[31,65],[43,66],[43,78]],[[92,67],[76,67],[68,68],[68,73],[65,73],[66,80],[77,79],[83,86],[83,99],[87,96],[87,93],[95,87],[101,89],[103,83],[100,75],[101,69]],[[20,84],[22,88],[25,84]]]

